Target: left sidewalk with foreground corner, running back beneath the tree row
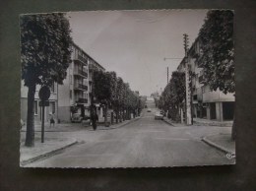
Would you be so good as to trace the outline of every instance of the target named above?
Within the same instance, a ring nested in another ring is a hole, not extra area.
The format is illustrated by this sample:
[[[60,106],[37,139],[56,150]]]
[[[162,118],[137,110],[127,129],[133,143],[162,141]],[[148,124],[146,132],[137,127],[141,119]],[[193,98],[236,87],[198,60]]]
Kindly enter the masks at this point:
[[[121,128],[129,123],[138,120],[139,118],[140,117],[136,117],[131,120],[123,121],[122,123],[113,124],[109,127],[105,127],[100,124],[97,126],[96,131]],[[41,126],[38,124],[34,126],[34,147],[29,148],[25,146],[26,127],[23,127],[21,130],[20,166],[25,166],[26,164],[38,159],[49,158],[53,155],[60,153],[66,148],[78,144],[79,142],[76,135],[81,134],[81,132],[85,132],[85,130],[94,131],[92,126],[83,123],[61,123],[55,124],[54,127],[49,127],[49,124],[46,123],[44,131],[48,133],[48,135],[45,134],[44,143],[41,143]],[[55,133],[49,134],[50,132]],[[63,134],[63,132],[65,133]],[[74,137],[76,139],[74,139]]]

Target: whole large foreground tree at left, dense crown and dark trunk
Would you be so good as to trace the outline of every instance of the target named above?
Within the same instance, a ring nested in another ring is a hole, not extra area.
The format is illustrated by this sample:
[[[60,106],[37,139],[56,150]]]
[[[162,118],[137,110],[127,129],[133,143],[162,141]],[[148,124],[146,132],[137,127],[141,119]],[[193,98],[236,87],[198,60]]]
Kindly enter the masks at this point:
[[[34,145],[33,102],[36,85],[62,84],[71,62],[69,21],[63,13],[21,18],[22,80],[29,88],[26,143]]]

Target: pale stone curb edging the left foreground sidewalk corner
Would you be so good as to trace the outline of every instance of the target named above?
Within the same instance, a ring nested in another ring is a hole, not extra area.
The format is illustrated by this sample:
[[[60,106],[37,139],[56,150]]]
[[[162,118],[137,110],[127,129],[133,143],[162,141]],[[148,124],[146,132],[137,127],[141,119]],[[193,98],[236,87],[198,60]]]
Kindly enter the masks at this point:
[[[29,163],[32,163],[33,161],[36,161],[38,159],[47,159],[51,156],[55,156],[57,155],[59,152],[61,152],[62,150],[65,150],[71,146],[74,146],[78,144],[78,141],[73,141],[72,143],[66,145],[66,146],[63,146],[61,148],[58,148],[56,150],[53,150],[53,151],[50,151],[50,152],[47,152],[47,153],[44,153],[44,154],[41,154],[39,156],[36,156],[36,157],[33,157],[32,159],[25,159],[25,160],[22,160],[20,161],[20,167],[24,167],[25,165],[29,164]]]

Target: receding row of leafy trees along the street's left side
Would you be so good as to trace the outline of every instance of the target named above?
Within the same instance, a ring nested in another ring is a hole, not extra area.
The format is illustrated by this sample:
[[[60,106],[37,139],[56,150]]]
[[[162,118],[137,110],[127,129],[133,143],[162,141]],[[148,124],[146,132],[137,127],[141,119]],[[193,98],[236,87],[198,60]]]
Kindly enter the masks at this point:
[[[129,84],[117,77],[115,72],[95,70],[93,73],[92,100],[103,105],[104,121],[107,122],[107,110],[111,107],[115,113],[116,123],[130,119],[141,111],[139,94],[131,91]]]

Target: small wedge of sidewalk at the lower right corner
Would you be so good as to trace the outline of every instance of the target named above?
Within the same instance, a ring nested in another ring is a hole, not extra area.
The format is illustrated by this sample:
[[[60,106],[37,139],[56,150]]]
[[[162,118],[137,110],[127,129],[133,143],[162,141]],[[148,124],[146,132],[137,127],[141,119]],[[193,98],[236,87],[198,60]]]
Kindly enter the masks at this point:
[[[202,138],[202,141],[226,154],[231,154],[233,157],[235,157],[235,142],[231,141],[230,134],[206,136]]]

